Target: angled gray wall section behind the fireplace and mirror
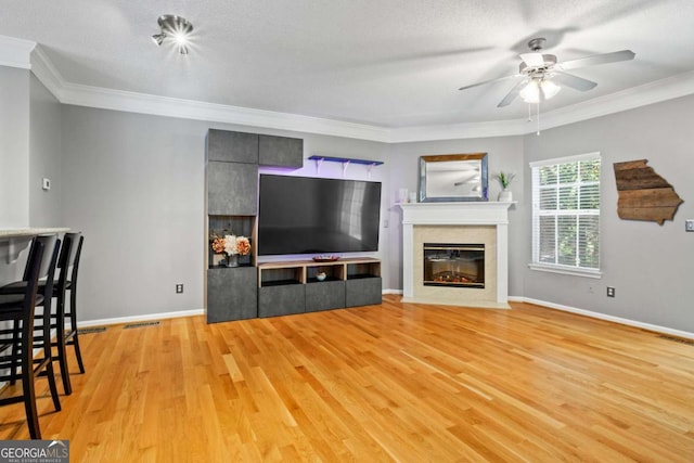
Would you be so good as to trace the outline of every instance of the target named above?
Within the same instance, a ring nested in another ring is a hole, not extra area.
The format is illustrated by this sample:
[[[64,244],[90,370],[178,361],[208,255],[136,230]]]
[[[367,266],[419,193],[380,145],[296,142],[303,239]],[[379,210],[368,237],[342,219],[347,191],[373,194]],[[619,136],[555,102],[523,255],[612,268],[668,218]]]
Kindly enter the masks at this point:
[[[509,209],[509,294],[523,295],[523,247],[520,228],[525,211],[523,137],[497,137],[466,140],[446,140],[433,142],[395,143],[390,145],[390,163],[388,175],[390,176],[390,191],[386,201],[389,205],[390,230],[387,244],[390,259],[388,268],[390,281],[387,287],[402,288],[402,211],[396,205],[398,190],[407,188],[409,191],[417,191],[419,158],[433,154],[463,154],[487,153],[489,167],[489,198],[497,201],[501,191],[499,183],[491,179],[492,175],[503,170],[515,172],[516,178],[511,184],[513,200],[518,204]]]

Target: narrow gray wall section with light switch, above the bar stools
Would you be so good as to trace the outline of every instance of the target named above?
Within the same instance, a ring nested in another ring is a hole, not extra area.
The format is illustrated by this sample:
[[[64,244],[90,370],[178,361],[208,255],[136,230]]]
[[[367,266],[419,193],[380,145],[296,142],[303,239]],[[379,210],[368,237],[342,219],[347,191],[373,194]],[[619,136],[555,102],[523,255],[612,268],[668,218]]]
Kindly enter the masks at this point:
[[[61,103],[30,75],[29,226],[61,227]],[[42,189],[42,180],[51,189]]]

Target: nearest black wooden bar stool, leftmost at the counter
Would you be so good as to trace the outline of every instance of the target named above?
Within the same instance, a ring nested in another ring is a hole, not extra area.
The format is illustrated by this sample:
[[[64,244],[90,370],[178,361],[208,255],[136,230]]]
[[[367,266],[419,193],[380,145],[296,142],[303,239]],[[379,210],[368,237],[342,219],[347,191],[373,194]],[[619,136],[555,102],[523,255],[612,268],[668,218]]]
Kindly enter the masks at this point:
[[[24,402],[31,439],[41,438],[34,384],[37,375],[44,373],[48,376],[53,406],[55,411],[61,410],[50,347],[50,307],[59,243],[55,235],[35,239],[24,272],[24,291],[21,294],[0,294],[0,321],[10,324],[0,330],[0,381],[11,384],[22,381],[22,394],[0,399],[0,406]],[[46,295],[37,294],[42,271],[46,271]],[[37,317],[36,306],[39,304],[43,304],[43,311]],[[37,352],[35,336],[42,344]]]

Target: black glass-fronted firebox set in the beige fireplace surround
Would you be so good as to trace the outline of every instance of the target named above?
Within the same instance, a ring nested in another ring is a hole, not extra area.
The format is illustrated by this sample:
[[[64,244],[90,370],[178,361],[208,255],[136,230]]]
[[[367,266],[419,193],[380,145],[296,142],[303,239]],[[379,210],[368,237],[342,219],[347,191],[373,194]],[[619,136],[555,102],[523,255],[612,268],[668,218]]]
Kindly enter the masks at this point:
[[[485,245],[424,243],[424,285],[485,287]]]

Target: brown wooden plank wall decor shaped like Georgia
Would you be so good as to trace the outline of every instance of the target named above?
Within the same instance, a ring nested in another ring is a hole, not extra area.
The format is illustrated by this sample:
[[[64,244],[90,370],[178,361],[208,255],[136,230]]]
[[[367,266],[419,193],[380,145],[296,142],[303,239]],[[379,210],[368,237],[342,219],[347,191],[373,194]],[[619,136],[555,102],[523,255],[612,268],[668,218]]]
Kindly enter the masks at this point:
[[[619,194],[617,215],[624,220],[651,220],[661,226],[672,220],[684,201],[647,163],[639,159],[614,164]]]

